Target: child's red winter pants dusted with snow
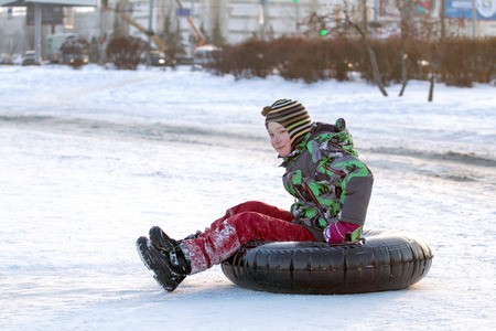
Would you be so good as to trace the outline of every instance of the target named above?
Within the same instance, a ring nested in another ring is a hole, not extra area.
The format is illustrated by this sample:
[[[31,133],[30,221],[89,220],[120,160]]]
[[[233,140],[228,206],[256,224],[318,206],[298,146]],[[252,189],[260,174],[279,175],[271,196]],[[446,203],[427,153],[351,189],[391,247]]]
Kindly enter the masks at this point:
[[[182,248],[191,258],[191,274],[206,270],[231,256],[251,241],[314,242],[302,225],[293,224],[290,212],[249,201],[227,210],[197,238],[185,239]]]

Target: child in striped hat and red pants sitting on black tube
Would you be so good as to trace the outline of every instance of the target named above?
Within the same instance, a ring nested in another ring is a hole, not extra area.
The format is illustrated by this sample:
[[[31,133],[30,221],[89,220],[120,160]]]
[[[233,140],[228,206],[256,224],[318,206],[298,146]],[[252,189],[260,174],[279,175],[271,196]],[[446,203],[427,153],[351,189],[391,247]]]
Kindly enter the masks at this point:
[[[305,107],[291,99],[277,100],[262,115],[270,143],[283,159],[284,188],[295,202],[290,211],[241,203],[205,232],[182,241],[152,227],[150,238],[138,238],[137,248],[166,291],[252,241],[342,244],[359,238],[374,178],[357,158],[344,119],[312,124]]]

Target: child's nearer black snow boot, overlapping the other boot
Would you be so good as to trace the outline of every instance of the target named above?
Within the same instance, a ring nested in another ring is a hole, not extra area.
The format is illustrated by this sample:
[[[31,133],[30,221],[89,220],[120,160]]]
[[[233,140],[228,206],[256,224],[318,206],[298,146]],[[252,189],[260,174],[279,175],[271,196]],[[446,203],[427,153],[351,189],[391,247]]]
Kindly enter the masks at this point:
[[[175,290],[191,273],[191,263],[179,246],[170,252],[161,250],[147,237],[139,237],[136,247],[143,264],[153,271],[153,278],[168,292]]]

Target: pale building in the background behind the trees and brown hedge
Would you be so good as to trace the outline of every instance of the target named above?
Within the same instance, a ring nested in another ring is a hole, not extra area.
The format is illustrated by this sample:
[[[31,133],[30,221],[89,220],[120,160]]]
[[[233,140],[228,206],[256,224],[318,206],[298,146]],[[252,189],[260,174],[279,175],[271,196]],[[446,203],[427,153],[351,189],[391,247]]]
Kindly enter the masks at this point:
[[[24,1],[24,0],[19,0]],[[496,35],[496,1],[474,0],[406,0],[411,2],[413,20],[439,19],[462,21],[456,33],[468,36]],[[0,0],[1,6],[12,0]],[[42,56],[48,56],[48,35],[71,33],[98,43],[104,52],[115,33],[129,33],[147,40],[140,29],[121,19],[126,12],[141,26],[160,35],[176,33],[190,54],[197,43],[192,22],[209,42],[223,40],[236,44],[250,38],[273,39],[308,32],[305,24],[312,13],[327,17],[328,29],[338,19],[343,0],[98,0],[98,7],[63,9],[62,22],[42,25]],[[359,8],[366,4],[366,19],[381,26],[373,30],[375,38],[386,38],[399,29],[396,0],[348,1]],[[118,11],[116,10],[118,9]],[[23,53],[33,49],[34,31],[29,11],[19,7],[0,8],[0,53]],[[448,23],[448,26],[453,24]],[[151,29],[150,29],[151,28]]]

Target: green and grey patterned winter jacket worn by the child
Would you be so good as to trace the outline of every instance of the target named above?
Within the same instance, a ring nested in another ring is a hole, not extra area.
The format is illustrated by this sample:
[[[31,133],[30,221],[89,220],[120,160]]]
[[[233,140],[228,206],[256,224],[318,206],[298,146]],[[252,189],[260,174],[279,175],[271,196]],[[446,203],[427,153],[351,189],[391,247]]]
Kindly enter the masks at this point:
[[[314,122],[281,164],[284,188],[295,197],[293,223],[317,241],[324,241],[322,232],[331,223],[364,225],[374,177],[357,157],[346,128]]]

